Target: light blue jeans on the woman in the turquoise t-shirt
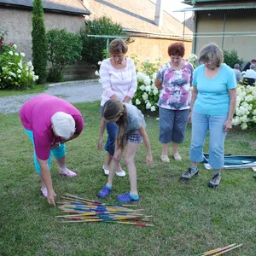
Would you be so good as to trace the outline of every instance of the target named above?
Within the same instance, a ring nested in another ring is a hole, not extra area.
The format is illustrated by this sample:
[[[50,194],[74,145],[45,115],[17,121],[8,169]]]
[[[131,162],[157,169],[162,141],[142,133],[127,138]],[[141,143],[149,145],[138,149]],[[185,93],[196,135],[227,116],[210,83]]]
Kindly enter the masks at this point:
[[[203,161],[203,145],[209,131],[209,165],[215,170],[224,166],[224,140],[227,134],[224,132],[224,122],[227,118],[228,114],[207,115],[193,111],[190,161],[195,163]]]

